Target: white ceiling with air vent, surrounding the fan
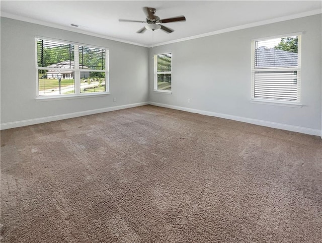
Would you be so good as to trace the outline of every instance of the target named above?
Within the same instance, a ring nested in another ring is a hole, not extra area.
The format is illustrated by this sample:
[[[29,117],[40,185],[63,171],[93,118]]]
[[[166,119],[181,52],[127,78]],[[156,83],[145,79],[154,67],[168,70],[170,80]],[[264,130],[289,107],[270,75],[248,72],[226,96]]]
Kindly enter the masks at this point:
[[[136,31],[143,7],[166,19],[184,15],[186,22],[167,23],[173,33]],[[246,28],[321,13],[321,1],[1,1],[1,16],[143,46]],[[71,27],[70,24],[82,26]]]

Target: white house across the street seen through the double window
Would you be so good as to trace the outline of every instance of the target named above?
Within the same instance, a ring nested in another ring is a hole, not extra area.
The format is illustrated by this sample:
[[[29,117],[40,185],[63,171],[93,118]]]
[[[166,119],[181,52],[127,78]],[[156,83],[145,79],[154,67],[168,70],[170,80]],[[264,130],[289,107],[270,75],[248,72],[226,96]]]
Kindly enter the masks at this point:
[[[47,78],[54,79],[58,78],[58,74],[61,74],[62,79],[73,79],[74,71],[69,70],[69,68],[74,68],[74,61],[62,61],[57,64],[52,64],[48,66],[49,68],[68,68],[67,70],[57,70],[57,69],[49,69],[47,72]],[[84,66],[83,69],[90,69],[87,66]],[[90,72],[81,72],[82,78],[88,78],[90,76]]]

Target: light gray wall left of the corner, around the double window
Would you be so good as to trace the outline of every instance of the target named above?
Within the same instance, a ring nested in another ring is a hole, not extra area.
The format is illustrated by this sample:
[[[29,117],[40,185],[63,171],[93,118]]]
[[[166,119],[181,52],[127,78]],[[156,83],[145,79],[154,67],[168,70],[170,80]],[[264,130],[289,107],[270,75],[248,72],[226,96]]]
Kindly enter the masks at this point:
[[[107,47],[111,95],[37,102],[35,36]],[[2,124],[147,101],[148,48],[1,18]]]

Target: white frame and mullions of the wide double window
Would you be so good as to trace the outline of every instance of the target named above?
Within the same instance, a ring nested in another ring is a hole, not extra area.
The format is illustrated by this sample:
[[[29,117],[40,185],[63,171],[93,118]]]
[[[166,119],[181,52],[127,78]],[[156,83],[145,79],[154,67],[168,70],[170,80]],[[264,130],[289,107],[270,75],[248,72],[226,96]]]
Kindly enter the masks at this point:
[[[48,67],[38,66],[38,50],[37,50],[37,39],[42,39],[46,41],[54,41],[62,44],[71,44],[74,46],[74,68],[55,68],[54,70],[64,70],[66,69],[74,72],[74,94],[60,94],[60,95],[39,95],[39,70],[48,70]],[[86,46],[90,48],[99,48],[105,50],[105,69],[83,69],[79,66],[79,46]],[[74,41],[66,41],[60,39],[53,39],[43,36],[35,36],[35,66],[36,66],[36,100],[63,100],[63,99],[73,99],[73,98],[84,98],[84,97],[93,97],[93,96],[106,96],[110,95],[110,79],[109,79],[109,48],[102,46],[95,46],[86,43],[79,43]],[[81,93],[81,72],[84,71],[95,71],[95,72],[105,72],[105,91],[104,92],[93,92],[93,93]]]

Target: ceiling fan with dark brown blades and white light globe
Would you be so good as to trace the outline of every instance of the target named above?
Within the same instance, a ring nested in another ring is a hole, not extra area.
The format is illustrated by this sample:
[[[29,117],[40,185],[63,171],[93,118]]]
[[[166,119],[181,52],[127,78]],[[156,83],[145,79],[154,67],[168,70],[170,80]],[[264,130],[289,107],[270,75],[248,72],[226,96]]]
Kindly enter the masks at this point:
[[[178,17],[173,17],[173,18],[168,18],[168,19],[160,19],[158,16],[154,15],[156,9],[154,8],[149,8],[149,7],[144,7],[143,12],[147,14],[145,21],[139,21],[139,20],[124,20],[124,19],[119,19],[120,22],[139,22],[139,23],[146,23],[146,25],[142,28],[139,29],[136,33],[143,33],[146,30],[158,30],[162,29],[166,31],[167,33],[174,32],[174,30],[162,25],[164,23],[171,23],[171,22],[177,22],[177,21],[186,21],[185,16],[178,16]]]

